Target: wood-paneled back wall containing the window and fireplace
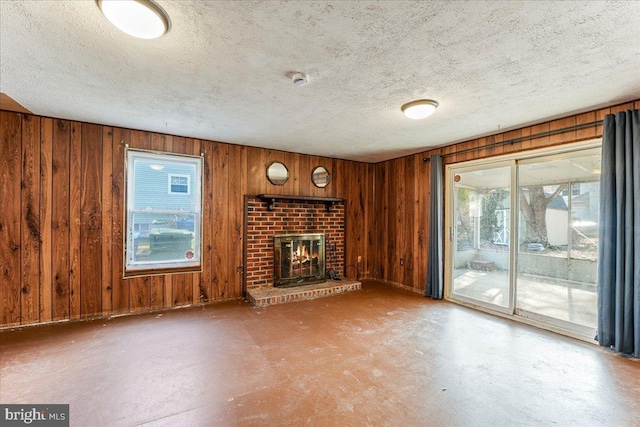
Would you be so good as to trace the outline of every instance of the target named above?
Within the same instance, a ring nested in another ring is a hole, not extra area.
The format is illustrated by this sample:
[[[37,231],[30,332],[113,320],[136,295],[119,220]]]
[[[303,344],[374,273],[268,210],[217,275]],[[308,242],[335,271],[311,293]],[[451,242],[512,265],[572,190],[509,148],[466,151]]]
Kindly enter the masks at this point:
[[[374,165],[8,111],[0,126],[0,327],[240,298],[245,194],[344,198],[346,262],[369,275]],[[123,279],[125,144],[204,153],[201,273]],[[284,186],[266,179],[272,161]]]

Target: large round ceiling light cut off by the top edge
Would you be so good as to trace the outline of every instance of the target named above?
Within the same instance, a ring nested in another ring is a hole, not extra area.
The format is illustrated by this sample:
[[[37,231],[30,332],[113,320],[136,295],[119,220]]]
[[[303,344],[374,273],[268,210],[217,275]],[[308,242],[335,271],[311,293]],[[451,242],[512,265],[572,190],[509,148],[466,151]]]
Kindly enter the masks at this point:
[[[106,18],[119,30],[140,39],[156,39],[169,30],[169,18],[149,0],[97,0]]]

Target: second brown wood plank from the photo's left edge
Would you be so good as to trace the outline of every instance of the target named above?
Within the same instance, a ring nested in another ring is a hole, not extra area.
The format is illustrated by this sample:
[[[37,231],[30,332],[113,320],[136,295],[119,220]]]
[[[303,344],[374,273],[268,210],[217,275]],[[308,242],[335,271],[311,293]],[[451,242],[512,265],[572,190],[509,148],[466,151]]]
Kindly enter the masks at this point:
[[[6,200],[0,197],[0,200]],[[22,117],[22,324],[40,321],[40,120]]]

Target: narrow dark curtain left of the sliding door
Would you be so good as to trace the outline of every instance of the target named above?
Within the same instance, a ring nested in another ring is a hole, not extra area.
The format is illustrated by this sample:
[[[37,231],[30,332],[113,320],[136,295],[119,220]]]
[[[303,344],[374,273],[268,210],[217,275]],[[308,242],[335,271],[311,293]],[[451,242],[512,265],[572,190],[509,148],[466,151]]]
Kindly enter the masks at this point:
[[[427,286],[424,296],[442,299],[444,286],[444,265],[442,253],[443,200],[442,200],[442,156],[435,154],[430,158],[431,195],[429,197],[431,214],[429,215],[429,251],[427,256]]]

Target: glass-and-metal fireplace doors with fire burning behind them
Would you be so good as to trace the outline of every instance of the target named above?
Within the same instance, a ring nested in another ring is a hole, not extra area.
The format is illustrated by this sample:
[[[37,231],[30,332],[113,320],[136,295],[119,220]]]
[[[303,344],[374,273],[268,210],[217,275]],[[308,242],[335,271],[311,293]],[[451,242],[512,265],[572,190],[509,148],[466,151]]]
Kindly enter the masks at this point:
[[[324,234],[280,234],[273,238],[274,286],[324,281]]]

